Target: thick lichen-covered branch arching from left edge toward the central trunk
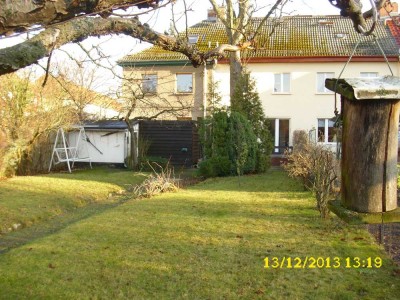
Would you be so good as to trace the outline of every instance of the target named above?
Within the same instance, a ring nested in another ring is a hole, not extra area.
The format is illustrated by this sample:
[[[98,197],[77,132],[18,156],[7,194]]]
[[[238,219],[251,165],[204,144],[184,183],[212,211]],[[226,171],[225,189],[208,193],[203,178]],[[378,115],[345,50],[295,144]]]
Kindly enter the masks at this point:
[[[153,31],[138,19],[80,18],[54,25],[32,39],[0,49],[0,75],[14,72],[47,57],[52,49],[69,42],[79,42],[89,36],[125,34],[163,49],[185,54],[195,67],[204,62],[202,53],[184,39],[176,39]]]

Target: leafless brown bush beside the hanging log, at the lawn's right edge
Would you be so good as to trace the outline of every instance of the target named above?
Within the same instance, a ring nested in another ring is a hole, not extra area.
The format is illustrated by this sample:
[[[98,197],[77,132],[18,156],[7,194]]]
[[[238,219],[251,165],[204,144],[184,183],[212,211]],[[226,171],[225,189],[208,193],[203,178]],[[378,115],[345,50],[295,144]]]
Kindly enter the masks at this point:
[[[292,153],[286,153],[286,158],[284,168],[289,176],[303,181],[305,187],[315,194],[321,217],[328,218],[327,204],[333,197],[333,183],[338,178],[335,154],[323,145],[307,141],[301,147],[295,147]]]

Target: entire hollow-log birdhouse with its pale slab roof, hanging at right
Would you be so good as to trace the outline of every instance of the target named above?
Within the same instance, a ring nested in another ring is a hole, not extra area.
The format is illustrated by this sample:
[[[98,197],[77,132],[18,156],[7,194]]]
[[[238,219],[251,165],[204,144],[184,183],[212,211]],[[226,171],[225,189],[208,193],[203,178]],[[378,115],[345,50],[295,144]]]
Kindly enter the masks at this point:
[[[397,208],[400,80],[397,77],[327,79],[341,94],[341,201],[357,212]]]

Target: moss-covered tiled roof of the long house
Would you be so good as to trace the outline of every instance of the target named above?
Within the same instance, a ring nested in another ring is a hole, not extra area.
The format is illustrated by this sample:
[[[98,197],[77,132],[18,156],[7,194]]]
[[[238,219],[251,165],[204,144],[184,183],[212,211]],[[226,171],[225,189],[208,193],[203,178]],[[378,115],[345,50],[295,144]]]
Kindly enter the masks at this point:
[[[253,18],[256,28],[261,18]],[[370,21],[369,21],[370,22]],[[272,34],[271,34],[272,33]],[[228,43],[224,25],[220,22],[202,21],[188,29],[189,36],[198,36],[196,46],[208,51],[218,44]],[[388,56],[398,56],[399,45],[391,29],[379,22],[374,35]],[[183,34],[181,34],[183,36]],[[288,16],[269,19],[253,50],[245,50],[244,58],[291,58],[291,57],[343,57],[349,56],[360,39],[349,18],[341,16]],[[382,53],[374,37],[362,37],[354,57],[381,57]],[[121,65],[131,63],[188,61],[181,53],[163,50],[158,46],[122,58]]]

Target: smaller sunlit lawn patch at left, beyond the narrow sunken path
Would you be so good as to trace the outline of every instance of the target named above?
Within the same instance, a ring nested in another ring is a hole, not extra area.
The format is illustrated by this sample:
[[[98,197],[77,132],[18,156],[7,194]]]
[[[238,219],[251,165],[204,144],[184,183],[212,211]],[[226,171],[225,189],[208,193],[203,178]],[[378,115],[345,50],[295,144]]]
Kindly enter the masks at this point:
[[[0,180],[0,235],[13,230],[13,225],[27,227],[90,203],[114,202],[110,194],[144,178],[104,167]]]

